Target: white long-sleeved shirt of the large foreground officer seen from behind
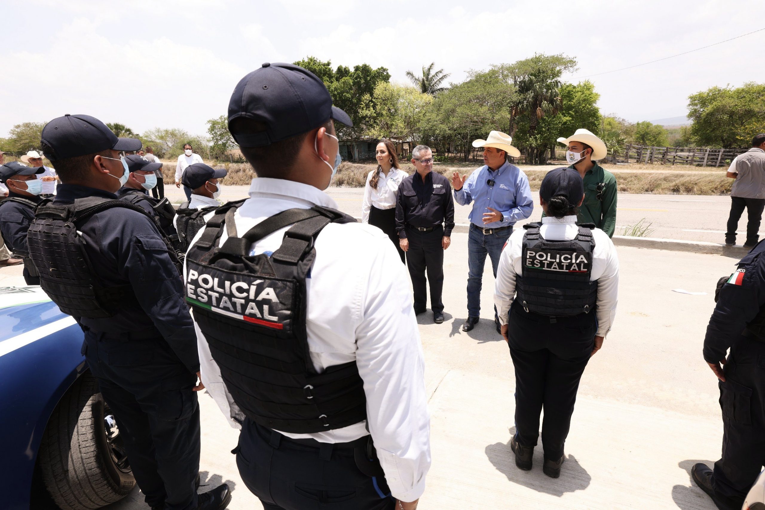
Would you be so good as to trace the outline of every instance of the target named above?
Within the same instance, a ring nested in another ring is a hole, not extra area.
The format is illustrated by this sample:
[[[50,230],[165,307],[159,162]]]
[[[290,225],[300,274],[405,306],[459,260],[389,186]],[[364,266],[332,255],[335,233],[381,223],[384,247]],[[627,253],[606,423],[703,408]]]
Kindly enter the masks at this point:
[[[249,197],[234,216],[240,235],[269,216],[295,207],[337,209],[326,193],[290,180],[253,179]],[[250,253],[275,251],[287,229],[256,242]],[[224,231],[220,242],[226,237]],[[330,223],[315,247],[312,278],[306,282],[311,361],[318,372],[356,362],[364,382],[367,419],[316,434],[280,432],[324,443],[345,443],[371,433],[392,495],[414,501],[425,491],[431,454],[425,362],[412,295],[409,285],[402,284],[409,274],[388,236],[373,226]],[[197,339],[202,381],[229,423],[239,427],[236,420],[244,415],[226,390],[198,327]]]

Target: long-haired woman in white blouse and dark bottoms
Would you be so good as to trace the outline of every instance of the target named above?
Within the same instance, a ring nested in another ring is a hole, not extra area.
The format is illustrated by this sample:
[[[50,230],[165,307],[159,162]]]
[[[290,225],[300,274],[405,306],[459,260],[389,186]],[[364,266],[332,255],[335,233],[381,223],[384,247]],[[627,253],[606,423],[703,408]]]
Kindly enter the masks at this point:
[[[396,232],[396,194],[399,193],[399,184],[407,174],[399,168],[396,146],[387,138],[383,138],[377,144],[376,158],[376,170],[366,176],[361,220],[388,234],[403,262],[404,252],[399,247],[399,234]]]

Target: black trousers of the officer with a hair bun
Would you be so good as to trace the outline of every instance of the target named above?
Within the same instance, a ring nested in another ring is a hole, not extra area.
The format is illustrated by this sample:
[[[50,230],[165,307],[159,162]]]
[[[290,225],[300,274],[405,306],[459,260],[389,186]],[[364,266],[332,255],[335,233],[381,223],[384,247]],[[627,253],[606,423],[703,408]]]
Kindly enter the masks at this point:
[[[552,322],[555,320],[555,322]],[[597,331],[595,313],[546,317],[513,303],[508,337],[516,369],[516,441],[535,447],[542,421],[545,459],[558,460],[574,413],[584,367],[590,361]]]

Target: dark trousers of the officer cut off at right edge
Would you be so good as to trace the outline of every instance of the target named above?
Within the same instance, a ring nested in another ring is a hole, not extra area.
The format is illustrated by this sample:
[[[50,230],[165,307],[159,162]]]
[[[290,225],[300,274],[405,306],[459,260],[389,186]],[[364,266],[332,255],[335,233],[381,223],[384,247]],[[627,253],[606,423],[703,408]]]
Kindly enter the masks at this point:
[[[715,495],[738,510],[765,465],[765,343],[740,336],[720,382],[722,458],[715,463]]]

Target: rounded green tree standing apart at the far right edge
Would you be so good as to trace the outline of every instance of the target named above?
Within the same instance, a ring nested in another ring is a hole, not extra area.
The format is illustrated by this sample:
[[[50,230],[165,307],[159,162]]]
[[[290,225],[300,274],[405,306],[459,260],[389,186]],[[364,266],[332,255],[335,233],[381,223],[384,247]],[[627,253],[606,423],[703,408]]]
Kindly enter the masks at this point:
[[[713,86],[688,96],[691,135],[698,145],[747,147],[765,129],[765,84]]]

